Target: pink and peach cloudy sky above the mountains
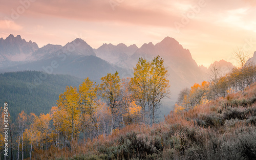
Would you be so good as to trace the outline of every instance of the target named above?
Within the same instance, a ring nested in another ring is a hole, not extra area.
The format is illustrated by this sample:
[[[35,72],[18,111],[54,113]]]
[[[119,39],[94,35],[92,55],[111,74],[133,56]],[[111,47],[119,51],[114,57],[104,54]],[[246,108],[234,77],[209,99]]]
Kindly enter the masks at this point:
[[[238,47],[251,56],[256,51],[254,0],[0,1],[0,37],[21,35],[39,47],[75,38],[93,48],[121,42],[141,47],[169,36],[205,66],[234,63]]]

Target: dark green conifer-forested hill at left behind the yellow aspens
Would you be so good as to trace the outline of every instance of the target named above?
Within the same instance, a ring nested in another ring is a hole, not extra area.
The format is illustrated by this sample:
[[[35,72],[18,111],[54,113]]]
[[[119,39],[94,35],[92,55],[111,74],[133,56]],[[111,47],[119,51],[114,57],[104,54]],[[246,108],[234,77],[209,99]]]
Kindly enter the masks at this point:
[[[8,103],[12,121],[18,113],[48,113],[56,106],[66,86],[78,86],[82,79],[69,75],[53,75],[37,71],[0,74],[0,102]]]

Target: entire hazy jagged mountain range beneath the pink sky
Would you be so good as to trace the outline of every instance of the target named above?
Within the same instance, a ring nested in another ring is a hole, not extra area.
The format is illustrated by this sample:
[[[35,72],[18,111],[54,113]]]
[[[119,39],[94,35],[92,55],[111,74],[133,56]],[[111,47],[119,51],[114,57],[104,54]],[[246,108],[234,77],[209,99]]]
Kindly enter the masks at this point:
[[[161,42],[144,43],[140,48],[135,44],[113,45],[104,43],[93,49],[86,41],[77,38],[61,45],[47,44],[42,48],[32,41],[9,35],[0,39],[0,72],[44,71],[48,74],[68,74],[78,78],[90,77],[96,82],[107,73],[118,71],[121,78],[132,77],[133,67],[140,57],[152,60],[156,56],[164,60],[168,68],[171,85],[171,100],[184,87],[208,80],[209,68],[198,66],[189,50],[174,38],[166,37]],[[253,58],[256,62],[256,54]],[[233,65],[224,60],[214,62],[223,74]],[[212,64],[211,64],[212,65]]]

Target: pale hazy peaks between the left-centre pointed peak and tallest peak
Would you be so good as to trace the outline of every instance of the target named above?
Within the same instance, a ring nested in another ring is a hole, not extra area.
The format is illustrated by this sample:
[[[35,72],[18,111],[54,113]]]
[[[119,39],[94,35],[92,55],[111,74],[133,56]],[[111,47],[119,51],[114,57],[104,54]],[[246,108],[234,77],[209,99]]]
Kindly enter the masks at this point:
[[[134,54],[136,50],[138,50],[138,47],[135,44],[127,47],[123,43],[117,45],[104,43],[101,47],[95,50],[95,53],[97,57],[123,67],[123,61]]]

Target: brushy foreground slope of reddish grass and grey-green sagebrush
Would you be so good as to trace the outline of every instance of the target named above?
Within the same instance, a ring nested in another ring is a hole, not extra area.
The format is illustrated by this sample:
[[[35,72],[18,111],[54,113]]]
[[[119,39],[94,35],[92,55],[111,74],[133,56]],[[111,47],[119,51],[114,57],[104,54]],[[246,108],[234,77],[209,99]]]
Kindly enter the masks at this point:
[[[241,93],[170,112],[153,127],[131,125],[71,150],[37,151],[37,159],[255,159],[256,83]],[[54,153],[54,154],[52,154]]]

